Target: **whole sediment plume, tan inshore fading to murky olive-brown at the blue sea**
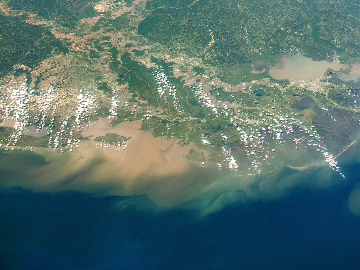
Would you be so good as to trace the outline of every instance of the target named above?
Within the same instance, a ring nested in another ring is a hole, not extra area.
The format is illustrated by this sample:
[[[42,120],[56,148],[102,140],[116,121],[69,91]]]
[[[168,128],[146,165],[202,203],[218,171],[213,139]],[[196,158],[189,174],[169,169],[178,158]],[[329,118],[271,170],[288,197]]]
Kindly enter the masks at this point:
[[[26,179],[19,177],[23,188],[39,191],[77,190],[97,195],[147,194],[154,202],[171,206],[194,197],[199,190],[219,177],[218,167],[184,158],[190,149],[204,151],[194,144],[181,147],[174,140],[154,138],[153,133],[140,130],[141,121],[111,126],[107,118],[93,123],[84,136],[116,133],[126,138],[127,148],[114,145],[101,147],[94,140],[84,140],[73,153],[35,148],[46,163],[30,168]],[[206,155],[207,153],[205,153]],[[21,178],[21,179],[20,179]]]

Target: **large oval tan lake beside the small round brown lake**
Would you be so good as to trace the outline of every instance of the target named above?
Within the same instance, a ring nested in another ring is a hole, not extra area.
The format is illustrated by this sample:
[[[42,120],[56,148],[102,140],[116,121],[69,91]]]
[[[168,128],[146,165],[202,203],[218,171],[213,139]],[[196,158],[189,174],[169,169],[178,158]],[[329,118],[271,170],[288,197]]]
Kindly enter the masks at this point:
[[[328,68],[338,71],[347,66],[338,62],[316,61],[303,55],[285,55],[269,70],[276,80],[307,80],[324,76]]]

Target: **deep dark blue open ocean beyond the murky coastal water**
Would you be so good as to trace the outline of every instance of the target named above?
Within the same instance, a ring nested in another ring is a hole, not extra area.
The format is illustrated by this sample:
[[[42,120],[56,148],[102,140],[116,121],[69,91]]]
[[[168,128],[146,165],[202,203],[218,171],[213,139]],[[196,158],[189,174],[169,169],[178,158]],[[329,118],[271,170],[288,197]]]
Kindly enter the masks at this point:
[[[360,164],[345,159],[346,179],[334,188],[204,217],[184,208],[116,207],[126,197],[3,189],[0,269],[359,270],[360,217],[347,199]]]

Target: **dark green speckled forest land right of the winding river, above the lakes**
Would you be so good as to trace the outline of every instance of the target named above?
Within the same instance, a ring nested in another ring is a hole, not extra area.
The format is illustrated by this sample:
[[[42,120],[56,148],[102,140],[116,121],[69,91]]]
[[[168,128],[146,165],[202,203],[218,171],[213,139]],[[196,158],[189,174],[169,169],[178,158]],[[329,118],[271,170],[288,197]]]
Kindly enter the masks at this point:
[[[335,51],[349,60],[360,55],[357,4],[356,0],[332,4],[153,0],[147,5],[152,15],[140,24],[139,33],[177,53],[220,65],[225,73],[239,63],[250,63],[256,55],[293,52],[332,60]]]

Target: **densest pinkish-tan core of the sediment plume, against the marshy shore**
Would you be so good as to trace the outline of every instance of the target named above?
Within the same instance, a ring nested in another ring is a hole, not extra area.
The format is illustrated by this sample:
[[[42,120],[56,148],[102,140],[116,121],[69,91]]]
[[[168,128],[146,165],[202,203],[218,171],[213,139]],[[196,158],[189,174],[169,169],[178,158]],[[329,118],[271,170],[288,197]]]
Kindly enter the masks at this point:
[[[189,169],[189,162],[183,156],[186,156],[190,149],[197,148],[195,145],[181,147],[173,140],[154,138],[151,131],[140,129],[141,121],[122,122],[111,126],[106,118],[102,118],[83,134],[97,137],[116,133],[131,138],[126,141],[127,148],[124,150],[119,151],[115,147],[102,149],[103,155],[109,161],[113,160],[114,156],[121,158],[120,162],[116,159],[116,164],[113,166],[121,168],[122,174],[128,179],[135,179],[145,174],[154,177],[181,174]]]

